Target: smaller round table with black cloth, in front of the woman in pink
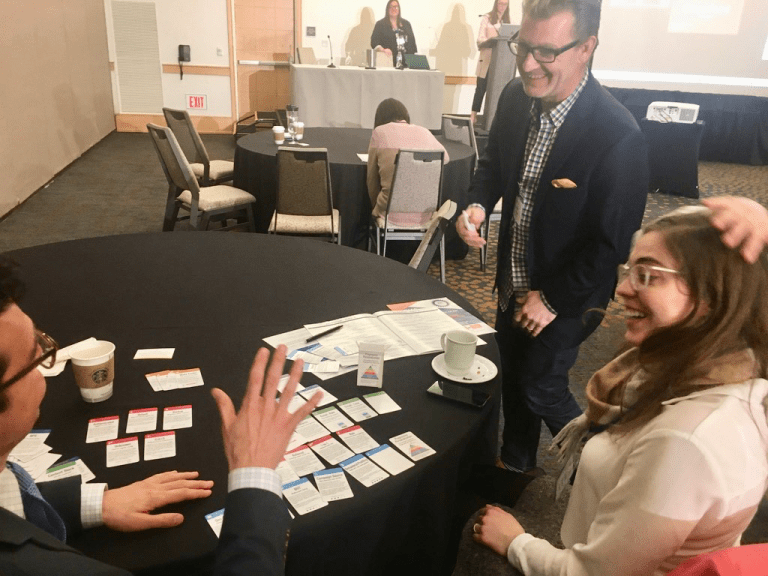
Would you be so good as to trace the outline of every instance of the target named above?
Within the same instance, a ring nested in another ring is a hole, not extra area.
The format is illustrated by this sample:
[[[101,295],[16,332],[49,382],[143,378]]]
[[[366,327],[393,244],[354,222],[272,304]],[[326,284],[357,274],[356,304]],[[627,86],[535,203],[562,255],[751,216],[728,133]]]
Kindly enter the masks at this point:
[[[340,212],[341,242],[345,246],[367,247],[371,202],[366,183],[367,165],[358,154],[368,153],[371,130],[367,128],[305,128],[303,142],[313,148],[327,148],[331,165],[333,206]],[[475,165],[471,146],[437,137],[445,146],[450,161],[443,169],[443,200],[453,200],[463,210]],[[272,132],[243,136],[235,150],[234,185],[256,197],[256,231],[266,232],[275,210],[277,190],[277,146]],[[463,258],[467,245],[453,227],[446,234],[446,255]]]

